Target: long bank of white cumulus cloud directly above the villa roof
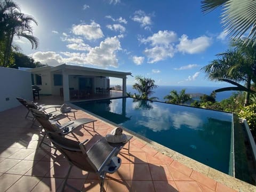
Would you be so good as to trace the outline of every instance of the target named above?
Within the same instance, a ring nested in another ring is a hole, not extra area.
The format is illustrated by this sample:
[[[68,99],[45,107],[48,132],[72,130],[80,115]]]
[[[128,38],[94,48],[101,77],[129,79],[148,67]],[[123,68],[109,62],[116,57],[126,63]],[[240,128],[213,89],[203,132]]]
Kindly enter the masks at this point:
[[[69,46],[70,49],[82,49],[81,47],[76,47],[78,46],[77,44],[70,44]],[[86,51],[88,51],[87,53],[36,52],[30,56],[36,61],[40,61],[50,66],[57,66],[62,63],[75,63],[79,65],[90,64],[106,68],[109,66],[118,67],[118,59],[116,57],[116,52],[118,50],[121,50],[121,43],[115,36],[106,38],[99,46],[86,46]]]

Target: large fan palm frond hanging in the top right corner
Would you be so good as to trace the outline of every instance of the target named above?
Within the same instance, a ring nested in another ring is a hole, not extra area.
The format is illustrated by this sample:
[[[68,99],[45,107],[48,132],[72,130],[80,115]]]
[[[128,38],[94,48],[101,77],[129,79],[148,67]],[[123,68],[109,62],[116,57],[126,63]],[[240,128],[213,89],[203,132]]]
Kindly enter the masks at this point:
[[[211,12],[222,6],[221,14],[223,26],[228,34],[240,38],[250,30],[246,43],[256,37],[256,1],[252,0],[202,0],[202,11]],[[255,43],[255,42],[254,42]]]

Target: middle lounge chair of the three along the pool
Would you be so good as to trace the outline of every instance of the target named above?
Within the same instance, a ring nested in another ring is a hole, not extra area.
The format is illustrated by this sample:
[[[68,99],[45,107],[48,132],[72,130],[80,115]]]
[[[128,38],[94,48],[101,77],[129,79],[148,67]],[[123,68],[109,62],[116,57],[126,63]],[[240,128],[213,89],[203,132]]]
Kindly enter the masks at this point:
[[[46,137],[47,132],[53,132],[58,133],[62,137],[71,133],[74,135],[73,131],[80,126],[85,126],[85,124],[92,123],[93,127],[90,127],[94,130],[94,122],[97,121],[95,119],[90,118],[79,118],[75,119],[73,121],[66,122],[62,125],[60,125],[58,122],[51,121],[49,118],[51,117],[50,114],[45,114],[42,110],[37,109],[30,109],[31,113],[35,117],[35,119],[38,121],[38,123],[41,125],[42,129],[44,129],[44,134],[41,142],[39,143],[39,147],[41,147],[42,143],[44,143],[47,146],[52,147],[48,143],[44,142],[44,139]],[[89,127],[89,126],[86,126]],[[75,135],[74,135],[75,137]]]

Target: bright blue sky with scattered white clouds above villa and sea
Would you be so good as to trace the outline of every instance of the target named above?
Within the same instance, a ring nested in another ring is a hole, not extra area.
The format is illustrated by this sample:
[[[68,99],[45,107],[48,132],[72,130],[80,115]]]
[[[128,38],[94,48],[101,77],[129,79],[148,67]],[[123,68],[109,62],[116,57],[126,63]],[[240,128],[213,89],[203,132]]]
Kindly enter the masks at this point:
[[[226,86],[200,70],[228,49],[221,9],[203,14],[201,1],[14,0],[38,26],[37,50],[15,39],[36,61],[131,72],[157,85]],[[134,77],[127,84],[134,84]],[[110,79],[110,84],[121,84]]]

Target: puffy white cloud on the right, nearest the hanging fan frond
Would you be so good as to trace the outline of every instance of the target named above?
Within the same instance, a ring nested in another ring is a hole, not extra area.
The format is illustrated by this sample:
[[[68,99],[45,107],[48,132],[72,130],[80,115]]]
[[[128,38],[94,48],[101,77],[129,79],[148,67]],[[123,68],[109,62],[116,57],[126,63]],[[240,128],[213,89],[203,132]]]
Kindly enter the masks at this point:
[[[190,40],[187,35],[182,35],[179,40],[180,43],[177,45],[177,49],[182,53],[200,53],[205,51],[207,47],[211,45],[211,38],[206,36]]]

